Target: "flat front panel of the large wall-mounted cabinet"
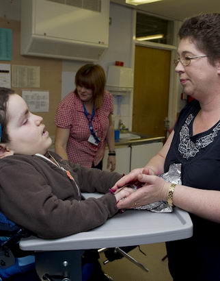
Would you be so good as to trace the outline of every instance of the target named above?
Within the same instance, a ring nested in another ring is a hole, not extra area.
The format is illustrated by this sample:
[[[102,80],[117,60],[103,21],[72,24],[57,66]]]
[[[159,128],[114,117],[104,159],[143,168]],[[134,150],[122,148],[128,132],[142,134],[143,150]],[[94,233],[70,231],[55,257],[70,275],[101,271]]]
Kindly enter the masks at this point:
[[[27,4],[27,1],[31,0],[25,1]],[[75,5],[56,3],[56,1],[32,1],[34,34],[108,45],[109,0],[100,2],[100,11],[78,8]]]

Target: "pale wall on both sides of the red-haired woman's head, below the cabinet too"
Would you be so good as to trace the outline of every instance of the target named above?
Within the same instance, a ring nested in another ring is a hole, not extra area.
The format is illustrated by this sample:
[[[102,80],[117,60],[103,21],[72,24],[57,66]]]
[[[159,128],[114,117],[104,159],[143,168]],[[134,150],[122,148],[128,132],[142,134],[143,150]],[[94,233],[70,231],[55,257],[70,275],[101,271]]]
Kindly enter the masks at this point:
[[[116,60],[124,62],[124,66],[132,65],[133,10],[122,5],[110,3],[109,48],[103,53],[100,64],[106,71]],[[74,75],[86,62],[63,61],[62,97],[74,88]],[[126,127],[131,127],[132,112],[130,110],[131,95],[114,97],[115,127],[122,119]]]

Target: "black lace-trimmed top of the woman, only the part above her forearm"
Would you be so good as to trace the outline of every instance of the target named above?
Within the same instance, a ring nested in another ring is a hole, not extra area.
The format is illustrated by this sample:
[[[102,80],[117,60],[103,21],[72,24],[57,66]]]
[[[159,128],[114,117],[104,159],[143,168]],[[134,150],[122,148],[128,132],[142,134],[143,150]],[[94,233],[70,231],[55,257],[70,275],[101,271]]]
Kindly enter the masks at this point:
[[[170,164],[182,163],[182,184],[220,191],[220,121],[193,136],[193,121],[199,111],[200,103],[192,101],[180,112],[165,172]]]

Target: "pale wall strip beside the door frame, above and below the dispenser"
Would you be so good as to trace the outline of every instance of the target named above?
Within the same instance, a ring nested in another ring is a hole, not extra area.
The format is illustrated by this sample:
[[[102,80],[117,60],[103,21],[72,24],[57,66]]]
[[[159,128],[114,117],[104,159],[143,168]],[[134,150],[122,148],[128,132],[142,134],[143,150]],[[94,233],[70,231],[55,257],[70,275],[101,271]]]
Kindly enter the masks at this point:
[[[109,25],[109,49],[102,56],[100,64],[107,71],[109,65],[115,64],[116,60],[124,62],[124,66],[131,67],[133,62],[132,42],[133,42],[133,10],[122,5],[110,3]],[[114,96],[114,121],[115,127],[118,122],[122,122],[131,129],[132,112],[130,103],[131,93],[125,96]]]

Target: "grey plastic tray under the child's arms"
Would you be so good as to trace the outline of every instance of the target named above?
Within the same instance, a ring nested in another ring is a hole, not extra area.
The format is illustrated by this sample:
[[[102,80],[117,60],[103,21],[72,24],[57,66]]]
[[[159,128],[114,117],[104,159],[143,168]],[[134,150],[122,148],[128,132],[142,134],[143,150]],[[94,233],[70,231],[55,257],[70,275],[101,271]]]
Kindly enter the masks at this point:
[[[95,194],[85,195],[85,197],[98,196]],[[187,212],[179,208],[174,208],[172,213],[126,210],[89,232],[73,234],[62,239],[38,239],[31,236],[20,241],[20,248],[36,251],[59,251],[122,247],[186,239],[192,234],[191,218]]]

